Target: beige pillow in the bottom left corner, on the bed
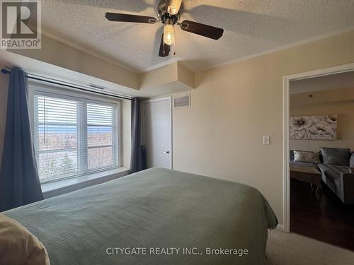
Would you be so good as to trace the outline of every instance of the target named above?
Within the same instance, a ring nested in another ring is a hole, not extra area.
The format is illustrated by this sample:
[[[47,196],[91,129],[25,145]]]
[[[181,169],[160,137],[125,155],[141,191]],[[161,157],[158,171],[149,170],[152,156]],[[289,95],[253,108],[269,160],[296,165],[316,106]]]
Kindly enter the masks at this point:
[[[16,220],[1,213],[0,264],[50,265],[42,242]]]

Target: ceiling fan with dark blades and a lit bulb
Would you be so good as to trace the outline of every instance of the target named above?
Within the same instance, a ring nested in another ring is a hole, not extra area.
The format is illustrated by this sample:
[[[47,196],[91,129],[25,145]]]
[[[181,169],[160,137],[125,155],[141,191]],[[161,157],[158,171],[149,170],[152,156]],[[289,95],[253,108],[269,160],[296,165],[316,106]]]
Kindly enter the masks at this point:
[[[162,33],[159,57],[169,56],[170,46],[175,42],[174,25],[179,25],[182,30],[188,33],[198,34],[209,37],[213,40],[219,40],[224,33],[222,28],[215,28],[211,25],[205,25],[190,20],[180,19],[180,8],[182,0],[161,0],[158,5],[158,18],[152,16],[137,16],[122,13],[105,13],[105,18],[110,21],[133,22],[133,23],[150,23],[161,22],[164,24],[164,33]]]

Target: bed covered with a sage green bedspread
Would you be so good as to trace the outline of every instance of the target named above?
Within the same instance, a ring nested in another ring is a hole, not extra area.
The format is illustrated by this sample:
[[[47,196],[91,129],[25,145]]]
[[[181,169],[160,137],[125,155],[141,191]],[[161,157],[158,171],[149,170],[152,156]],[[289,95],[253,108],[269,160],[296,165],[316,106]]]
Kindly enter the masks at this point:
[[[253,187],[162,168],[4,214],[43,242],[52,265],[264,264],[278,224]]]

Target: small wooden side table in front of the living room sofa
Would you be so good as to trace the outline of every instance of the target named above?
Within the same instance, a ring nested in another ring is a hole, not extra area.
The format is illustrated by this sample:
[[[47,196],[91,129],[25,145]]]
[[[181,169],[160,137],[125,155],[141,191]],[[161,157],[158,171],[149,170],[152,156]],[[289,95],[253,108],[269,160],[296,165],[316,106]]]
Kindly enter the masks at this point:
[[[321,199],[321,172],[317,169],[317,167],[290,165],[290,177],[311,184],[312,190],[314,190],[314,184],[316,184],[316,197],[317,199]]]

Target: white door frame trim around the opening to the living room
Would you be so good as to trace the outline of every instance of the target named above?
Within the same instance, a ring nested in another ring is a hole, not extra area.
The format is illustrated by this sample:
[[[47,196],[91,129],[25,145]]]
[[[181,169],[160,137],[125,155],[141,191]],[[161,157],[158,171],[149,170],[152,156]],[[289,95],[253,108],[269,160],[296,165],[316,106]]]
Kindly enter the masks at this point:
[[[329,76],[335,73],[354,71],[354,63],[333,66],[325,69],[295,73],[283,76],[282,86],[282,113],[283,113],[283,230],[290,232],[290,148],[289,148],[289,120],[290,120],[290,81],[296,81],[319,76]],[[281,225],[280,225],[281,227]]]

